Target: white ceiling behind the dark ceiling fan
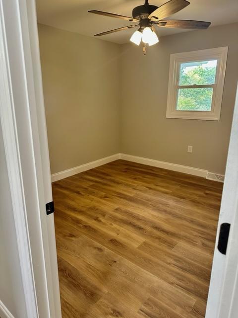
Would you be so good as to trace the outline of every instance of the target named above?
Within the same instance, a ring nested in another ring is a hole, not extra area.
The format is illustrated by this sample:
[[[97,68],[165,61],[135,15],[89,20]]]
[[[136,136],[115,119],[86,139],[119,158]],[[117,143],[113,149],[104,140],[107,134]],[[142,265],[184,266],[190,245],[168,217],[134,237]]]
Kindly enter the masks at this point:
[[[160,6],[166,0],[151,0]],[[190,5],[173,15],[173,19],[202,20],[211,26],[238,22],[238,0],[189,0]],[[101,10],[131,16],[132,9],[144,0],[36,0],[38,22],[83,35],[94,34],[134,24],[116,18],[88,13]],[[127,43],[135,29],[104,35],[101,39]],[[159,36],[185,32],[183,29],[157,28]],[[205,31],[204,31],[205,32]]]

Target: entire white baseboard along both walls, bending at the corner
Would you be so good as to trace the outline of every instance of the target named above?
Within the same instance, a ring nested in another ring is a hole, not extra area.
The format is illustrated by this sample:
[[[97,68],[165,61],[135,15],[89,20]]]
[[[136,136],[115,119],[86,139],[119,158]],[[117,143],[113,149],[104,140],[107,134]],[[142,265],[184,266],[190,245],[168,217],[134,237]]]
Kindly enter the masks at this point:
[[[103,164],[106,164],[106,163],[109,163],[109,162],[112,162],[112,161],[115,161],[118,159],[123,159],[123,160],[127,160],[127,161],[141,163],[141,164],[151,165],[151,166],[162,168],[162,169],[168,169],[168,170],[172,170],[172,171],[192,174],[192,175],[203,177],[203,178],[206,178],[209,180],[224,182],[224,175],[211,173],[208,170],[189,167],[186,165],[181,165],[181,164],[176,164],[176,163],[171,163],[171,162],[159,161],[159,160],[148,159],[148,158],[137,157],[137,156],[131,156],[131,155],[126,155],[126,154],[116,154],[116,155],[113,155],[110,157],[95,160],[95,161],[85,163],[85,164],[79,165],[79,166],[71,168],[71,169],[67,169],[67,170],[52,174],[52,176],[51,176],[52,182],[67,178],[71,175],[74,175],[74,174],[77,174],[77,173],[80,173],[83,171],[87,171],[87,170],[96,168],[100,165],[103,165]]]

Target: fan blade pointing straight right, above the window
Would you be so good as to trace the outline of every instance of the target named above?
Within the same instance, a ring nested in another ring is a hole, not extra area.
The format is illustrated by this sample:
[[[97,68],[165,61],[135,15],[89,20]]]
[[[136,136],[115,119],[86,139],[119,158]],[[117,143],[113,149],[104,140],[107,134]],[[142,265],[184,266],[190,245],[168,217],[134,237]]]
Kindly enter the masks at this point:
[[[160,20],[154,24],[167,28],[207,29],[211,22],[193,20]]]

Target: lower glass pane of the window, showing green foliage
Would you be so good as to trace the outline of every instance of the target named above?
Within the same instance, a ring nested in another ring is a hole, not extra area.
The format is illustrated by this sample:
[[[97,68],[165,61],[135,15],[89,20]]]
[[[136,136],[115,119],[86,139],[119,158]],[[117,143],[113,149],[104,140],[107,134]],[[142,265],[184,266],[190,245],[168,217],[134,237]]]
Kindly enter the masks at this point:
[[[211,111],[213,88],[179,88],[177,110]]]

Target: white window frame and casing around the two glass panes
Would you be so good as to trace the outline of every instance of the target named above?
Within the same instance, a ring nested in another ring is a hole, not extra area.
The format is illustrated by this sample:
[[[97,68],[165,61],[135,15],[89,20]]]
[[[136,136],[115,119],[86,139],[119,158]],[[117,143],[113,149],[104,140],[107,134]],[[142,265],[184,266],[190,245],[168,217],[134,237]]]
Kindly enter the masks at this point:
[[[166,118],[220,120],[222,95],[226,74],[228,46],[192,52],[176,53],[170,56],[170,75],[167,99]],[[200,62],[217,60],[215,83],[212,85],[179,86],[180,64],[186,62]],[[177,110],[179,88],[213,87],[211,111]]]

